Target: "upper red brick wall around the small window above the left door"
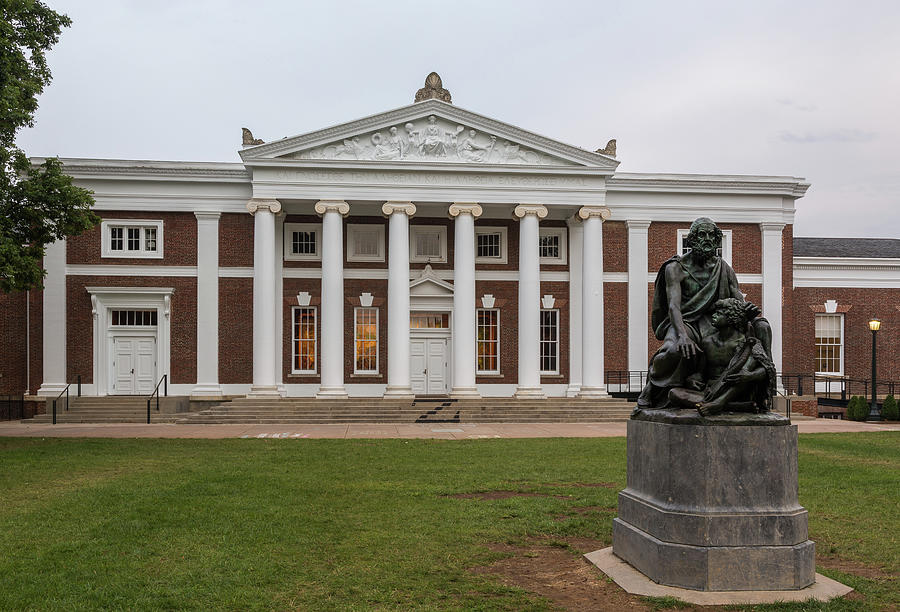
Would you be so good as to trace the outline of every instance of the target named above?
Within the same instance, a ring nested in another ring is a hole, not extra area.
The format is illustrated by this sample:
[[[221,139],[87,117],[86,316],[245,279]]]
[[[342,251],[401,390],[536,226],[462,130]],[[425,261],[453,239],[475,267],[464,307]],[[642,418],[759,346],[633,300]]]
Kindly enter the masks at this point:
[[[109,264],[138,266],[197,265],[197,218],[194,213],[102,211],[105,219],[152,219],[163,222],[163,258],[101,257],[101,226],[79,236],[66,239],[66,262],[69,264]],[[224,216],[224,215],[223,215]],[[253,248],[251,245],[251,258]],[[252,265],[252,264],[251,264]]]

